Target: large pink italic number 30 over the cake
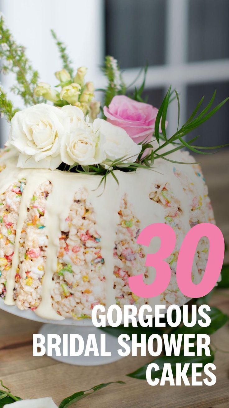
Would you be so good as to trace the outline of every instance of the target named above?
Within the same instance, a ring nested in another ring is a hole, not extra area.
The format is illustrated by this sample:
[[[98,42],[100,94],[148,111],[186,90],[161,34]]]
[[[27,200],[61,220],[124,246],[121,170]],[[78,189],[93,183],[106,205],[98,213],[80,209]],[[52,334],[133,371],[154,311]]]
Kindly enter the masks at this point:
[[[140,233],[137,243],[149,246],[151,239],[159,237],[161,246],[154,254],[146,255],[146,266],[156,269],[156,277],[151,284],[145,284],[143,274],[129,277],[132,292],[140,297],[155,297],[160,295],[170,282],[170,266],[164,260],[175,248],[176,234],[167,224],[148,225]],[[192,266],[196,247],[202,237],[209,239],[209,255],[205,273],[199,284],[192,282]],[[202,223],[194,226],[185,236],[177,259],[177,284],[183,295],[187,297],[202,297],[207,295],[218,280],[224,258],[224,239],[220,229],[214,224]]]

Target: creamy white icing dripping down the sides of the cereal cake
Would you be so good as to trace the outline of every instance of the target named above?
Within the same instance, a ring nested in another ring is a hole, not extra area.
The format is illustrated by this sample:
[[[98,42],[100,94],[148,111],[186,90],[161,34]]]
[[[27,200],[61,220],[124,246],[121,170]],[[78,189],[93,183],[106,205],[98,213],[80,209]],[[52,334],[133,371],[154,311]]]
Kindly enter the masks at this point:
[[[174,153],[173,160],[181,161],[180,153]],[[178,157],[178,158],[177,158]],[[46,266],[42,283],[41,303],[35,313],[46,319],[61,320],[63,317],[58,315],[52,308],[51,291],[54,281],[52,276],[57,268],[57,253],[59,250],[59,237],[61,235],[61,224],[65,223],[68,217],[70,206],[74,200],[75,192],[84,187],[88,191],[87,200],[92,204],[96,217],[96,230],[101,237],[101,253],[105,259],[105,282],[106,282],[106,307],[116,303],[114,284],[114,258],[113,248],[116,240],[116,227],[119,222],[118,211],[122,196],[126,193],[128,201],[133,205],[135,215],[140,220],[141,229],[155,222],[164,223],[164,208],[149,199],[150,188],[155,182],[169,182],[174,195],[181,202],[183,224],[185,232],[190,229],[188,202],[179,179],[173,173],[174,164],[157,160],[152,170],[138,169],[135,173],[124,173],[115,171],[119,185],[111,174],[107,176],[105,190],[103,186],[95,190],[101,177],[94,175],[82,175],[79,173],[64,173],[58,170],[50,171],[43,169],[19,169],[16,167],[16,159],[12,153],[4,153],[0,163],[6,164],[6,168],[0,175],[0,194],[9,187],[9,185],[26,178],[26,186],[22,194],[19,217],[17,221],[17,230],[15,236],[15,250],[12,257],[12,267],[7,277],[7,295],[5,304],[13,305],[13,289],[15,286],[15,273],[19,264],[19,240],[24,220],[26,218],[27,208],[30,204],[36,188],[45,181],[52,183],[52,192],[49,194],[46,202],[45,225],[48,236],[48,248],[46,250]],[[203,197],[203,182],[198,180],[191,165],[176,164],[177,169],[181,169],[198,188],[199,194]],[[102,193],[102,194],[101,194]],[[152,239],[150,246],[145,248],[146,253],[154,253],[159,249],[160,241],[158,238]],[[154,268],[148,268],[148,283],[153,282],[155,277]],[[149,299],[150,306],[159,303],[159,297]]]

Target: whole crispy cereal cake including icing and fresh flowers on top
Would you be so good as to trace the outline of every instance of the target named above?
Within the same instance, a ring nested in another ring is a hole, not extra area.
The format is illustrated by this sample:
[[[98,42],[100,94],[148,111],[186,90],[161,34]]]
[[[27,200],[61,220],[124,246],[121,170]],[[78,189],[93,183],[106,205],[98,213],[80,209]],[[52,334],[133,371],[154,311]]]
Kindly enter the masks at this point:
[[[140,308],[187,302],[177,286],[179,249],[190,228],[214,223],[201,168],[189,151],[214,147],[196,146],[197,137],[186,135],[228,98],[210,110],[214,93],[201,111],[202,98],[179,125],[177,91],[170,86],[157,109],[142,99],[147,67],[126,86],[117,60],[106,56],[107,84],[99,89],[100,102],[93,82],[85,82],[87,68],[74,71],[54,31],[62,69],[55,72],[58,82],[52,87],[38,82],[2,16],[0,25],[2,71],[16,74],[13,90],[25,106],[15,108],[0,86],[1,116],[11,122],[0,157],[0,306],[16,305],[46,319],[79,320],[90,319],[96,304],[108,309],[113,304]],[[173,99],[178,125],[168,134],[166,116]],[[177,239],[166,260],[168,287],[144,299],[132,293],[129,277],[141,274],[148,284],[155,279],[155,268],[145,263],[148,253],[159,250],[160,239],[154,237],[149,247],[137,242],[154,223],[168,224]],[[193,263],[196,284],[207,257],[208,239],[203,237]]]

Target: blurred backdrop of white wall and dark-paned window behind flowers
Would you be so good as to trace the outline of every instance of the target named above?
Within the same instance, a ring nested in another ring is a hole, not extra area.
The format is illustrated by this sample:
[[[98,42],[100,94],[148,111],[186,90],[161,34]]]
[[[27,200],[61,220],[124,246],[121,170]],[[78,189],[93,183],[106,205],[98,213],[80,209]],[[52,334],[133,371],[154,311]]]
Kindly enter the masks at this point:
[[[106,54],[118,59],[126,84],[148,61],[148,102],[159,106],[172,83],[181,99],[181,123],[203,95],[207,102],[217,89],[216,103],[229,96],[229,0],[0,0],[0,10],[43,82],[55,85],[54,72],[61,68],[52,28],[68,45],[75,68],[87,66],[87,80],[97,88],[105,85],[99,67]],[[13,75],[1,76],[7,89],[13,81]],[[198,129],[198,144],[229,142],[228,109],[226,104]],[[168,122],[170,133],[177,125],[175,102]],[[0,130],[3,145],[9,124],[2,121]]]

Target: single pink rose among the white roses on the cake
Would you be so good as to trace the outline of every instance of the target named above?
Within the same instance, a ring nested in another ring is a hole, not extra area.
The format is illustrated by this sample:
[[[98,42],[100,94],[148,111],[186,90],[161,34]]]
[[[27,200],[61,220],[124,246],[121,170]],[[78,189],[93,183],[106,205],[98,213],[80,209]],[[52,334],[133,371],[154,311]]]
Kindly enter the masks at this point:
[[[152,137],[158,112],[152,105],[117,95],[103,111],[107,121],[124,129],[135,143]]]

